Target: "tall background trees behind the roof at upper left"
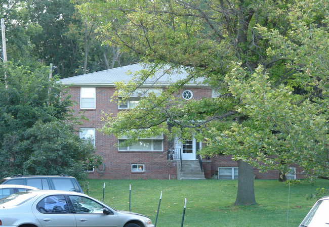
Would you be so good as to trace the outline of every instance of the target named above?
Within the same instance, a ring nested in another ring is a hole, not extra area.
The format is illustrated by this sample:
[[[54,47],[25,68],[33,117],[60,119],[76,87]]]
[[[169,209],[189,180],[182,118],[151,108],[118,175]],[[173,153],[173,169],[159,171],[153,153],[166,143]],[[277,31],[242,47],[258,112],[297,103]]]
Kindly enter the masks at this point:
[[[1,0],[7,58],[20,65],[35,62],[54,67],[61,78],[135,62],[102,37],[75,9],[79,1]],[[2,46],[0,44],[0,46]]]

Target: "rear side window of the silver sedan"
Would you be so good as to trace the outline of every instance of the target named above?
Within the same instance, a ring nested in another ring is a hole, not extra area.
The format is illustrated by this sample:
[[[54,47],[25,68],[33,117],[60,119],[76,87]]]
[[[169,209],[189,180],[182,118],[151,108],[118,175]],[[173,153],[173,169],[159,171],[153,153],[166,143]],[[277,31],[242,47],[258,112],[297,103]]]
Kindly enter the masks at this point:
[[[36,205],[42,213],[68,213],[69,208],[64,195],[48,196]]]

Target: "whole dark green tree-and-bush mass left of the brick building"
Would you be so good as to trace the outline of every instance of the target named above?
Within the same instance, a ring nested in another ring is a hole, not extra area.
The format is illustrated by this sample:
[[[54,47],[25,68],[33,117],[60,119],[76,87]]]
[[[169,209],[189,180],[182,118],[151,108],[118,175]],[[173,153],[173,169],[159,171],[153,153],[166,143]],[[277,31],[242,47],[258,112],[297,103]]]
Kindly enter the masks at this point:
[[[66,173],[85,178],[84,166],[97,159],[95,148],[65,123],[71,119],[71,101],[61,99],[58,78],[49,79],[48,67],[32,71],[7,62],[1,69],[1,175]]]

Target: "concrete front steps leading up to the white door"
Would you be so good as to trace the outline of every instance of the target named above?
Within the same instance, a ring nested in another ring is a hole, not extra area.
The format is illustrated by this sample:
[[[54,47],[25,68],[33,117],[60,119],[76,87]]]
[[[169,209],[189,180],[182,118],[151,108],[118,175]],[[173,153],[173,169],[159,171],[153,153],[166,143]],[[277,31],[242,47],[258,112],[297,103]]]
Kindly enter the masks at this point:
[[[177,163],[177,179],[205,179],[198,160],[183,160],[182,172],[181,161]]]

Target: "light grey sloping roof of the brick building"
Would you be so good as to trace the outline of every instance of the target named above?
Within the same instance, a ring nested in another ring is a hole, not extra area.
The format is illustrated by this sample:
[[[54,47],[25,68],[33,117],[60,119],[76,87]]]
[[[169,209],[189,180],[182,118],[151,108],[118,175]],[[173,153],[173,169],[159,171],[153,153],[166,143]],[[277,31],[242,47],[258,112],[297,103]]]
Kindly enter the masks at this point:
[[[107,69],[99,72],[88,73],[79,76],[72,76],[61,79],[62,84],[72,84],[79,86],[114,86],[115,82],[124,81],[128,83],[136,73],[146,69],[142,64],[134,64],[128,66],[122,66],[113,69]],[[158,84],[169,85],[177,80],[186,78],[188,73],[184,70],[168,71],[169,68],[163,67],[161,70],[155,72],[154,76],[149,77],[144,85]],[[202,85],[201,80],[190,82],[189,85]]]

